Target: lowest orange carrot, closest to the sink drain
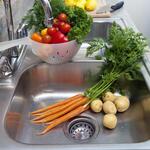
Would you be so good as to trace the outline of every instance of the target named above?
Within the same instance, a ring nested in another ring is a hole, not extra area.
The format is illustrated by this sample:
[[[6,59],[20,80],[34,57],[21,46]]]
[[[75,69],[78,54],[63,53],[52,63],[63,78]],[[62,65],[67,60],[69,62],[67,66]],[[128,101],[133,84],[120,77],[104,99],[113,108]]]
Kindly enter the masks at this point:
[[[73,117],[78,116],[79,114],[86,111],[87,109],[89,109],[88,105],[82,105],[82,106],[77,107],[76,109],[70,111],[69,113],[65,114],[64,116],[53,120],[50,125],[48,125],[42,132],[38,133],[37,135],[46,134],[47,132],[49,132],[51,129],[53,129],[57,125],[65,122]]]

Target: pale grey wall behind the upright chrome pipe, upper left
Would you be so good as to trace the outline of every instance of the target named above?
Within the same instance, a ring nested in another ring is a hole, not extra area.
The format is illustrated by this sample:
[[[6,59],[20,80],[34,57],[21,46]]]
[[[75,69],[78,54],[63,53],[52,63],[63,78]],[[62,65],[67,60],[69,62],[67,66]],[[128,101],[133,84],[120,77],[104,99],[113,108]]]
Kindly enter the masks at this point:
[[[34,0],[11,0],[15,30],[17,29],[21,18],[26,14],[27,10],[32,7],[33,2]],[[0,41],[7,40],[7,28],[4,11],[3,0],[0,0]]]

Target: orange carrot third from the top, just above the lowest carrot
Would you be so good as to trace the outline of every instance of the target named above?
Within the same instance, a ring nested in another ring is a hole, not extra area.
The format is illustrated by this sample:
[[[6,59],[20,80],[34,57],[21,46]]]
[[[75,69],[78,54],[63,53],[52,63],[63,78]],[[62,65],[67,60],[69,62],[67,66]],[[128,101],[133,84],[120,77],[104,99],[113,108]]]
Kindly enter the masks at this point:
[[[67,107],[66,109],[64,109],[62,111],[59,111],[58,113],[55,113],[55,114],[50,115],[48,117],[45,117],[41,120],[35,120],[35,121],[32,121],[32,122],[35,123],[35,124],[50,122],[50,121],[52,121],[52,120],[54,120],[58,117],[61,117],[62,115],[65,115],[66,113],[70,112],[71,110],[75,109],[76,107],[79,107],[81,105],[86,104],[87,102],[88,102],[88,98],[84,97],[81,100],[79,100],[78,102],[74,103],[73,105],[70,105],[70,107]]]

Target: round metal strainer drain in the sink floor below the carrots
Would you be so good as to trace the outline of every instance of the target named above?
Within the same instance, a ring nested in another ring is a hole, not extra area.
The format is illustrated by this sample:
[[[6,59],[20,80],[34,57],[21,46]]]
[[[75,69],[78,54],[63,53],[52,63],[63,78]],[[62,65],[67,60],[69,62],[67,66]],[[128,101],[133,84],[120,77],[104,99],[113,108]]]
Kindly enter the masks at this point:
[[[67,123],[64,132],[70,140],[84,143],[97,136],[99,126],[97,121],[92,118],[79,117]]]

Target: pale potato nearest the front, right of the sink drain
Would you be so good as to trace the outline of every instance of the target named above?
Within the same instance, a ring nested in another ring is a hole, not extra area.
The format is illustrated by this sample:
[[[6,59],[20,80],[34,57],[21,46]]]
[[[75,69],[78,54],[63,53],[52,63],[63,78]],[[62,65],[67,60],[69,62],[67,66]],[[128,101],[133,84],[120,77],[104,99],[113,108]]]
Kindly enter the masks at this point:
[[[117,125],[117,117],[114,114],[104,115],[103,125],[108,129],[114,129]]]

